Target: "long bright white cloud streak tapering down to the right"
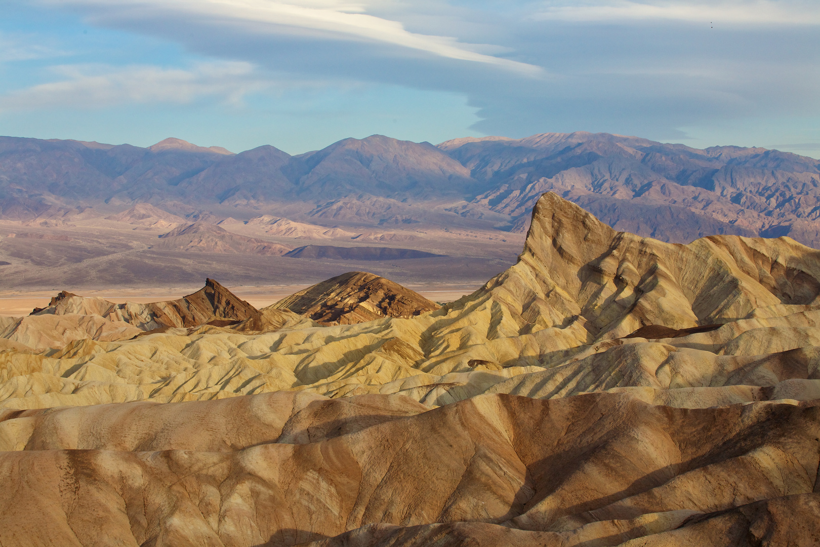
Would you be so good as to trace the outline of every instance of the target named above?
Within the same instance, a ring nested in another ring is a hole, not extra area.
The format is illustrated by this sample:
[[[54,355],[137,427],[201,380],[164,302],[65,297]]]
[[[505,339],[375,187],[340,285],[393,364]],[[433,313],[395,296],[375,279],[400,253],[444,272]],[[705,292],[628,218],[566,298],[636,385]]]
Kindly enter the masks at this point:
[[[367,15],[362,3],[337,0],[70,0],[98,10],[98,18],[145,16],[148,12],[182,13],[209,18],[221,25],[245,25],[251,32],[278,34],[291,31],[320,33],[335,39],[366,40],[428,52],[468,62],[479,62],[528,75],[543,69],[480,52],[486,44],[460,43],[457,39],[406,30],[399,21]]]

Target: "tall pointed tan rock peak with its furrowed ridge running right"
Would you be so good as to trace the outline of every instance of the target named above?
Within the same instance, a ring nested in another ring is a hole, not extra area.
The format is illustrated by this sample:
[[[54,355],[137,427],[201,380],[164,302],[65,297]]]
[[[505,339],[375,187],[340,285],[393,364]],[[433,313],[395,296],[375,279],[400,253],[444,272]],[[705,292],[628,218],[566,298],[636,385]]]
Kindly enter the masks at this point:
[[[558,327],[606,340],[641,326],[683,329],[820,303],[820,252],[785,237],[666,244],[616,232],[549,193],[535,206],[519,262],[473,300],[482,295],[504,311],[491,337]]]

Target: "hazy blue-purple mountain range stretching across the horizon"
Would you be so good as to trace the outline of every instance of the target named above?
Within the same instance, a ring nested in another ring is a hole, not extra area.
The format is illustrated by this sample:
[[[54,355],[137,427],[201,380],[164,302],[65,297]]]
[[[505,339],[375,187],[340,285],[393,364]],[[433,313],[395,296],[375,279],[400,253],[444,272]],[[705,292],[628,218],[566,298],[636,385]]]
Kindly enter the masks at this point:
[[[0,137],[0,217],[10,220],[152,203],[193,220],[273,214],[320,226],[520,232],[546,191],[617,230],[665,241],[789,235],[820,247],[820,161],[764,148],[584,132],[438,146],[372,135],[290,156],[180,139],[138,148]]]

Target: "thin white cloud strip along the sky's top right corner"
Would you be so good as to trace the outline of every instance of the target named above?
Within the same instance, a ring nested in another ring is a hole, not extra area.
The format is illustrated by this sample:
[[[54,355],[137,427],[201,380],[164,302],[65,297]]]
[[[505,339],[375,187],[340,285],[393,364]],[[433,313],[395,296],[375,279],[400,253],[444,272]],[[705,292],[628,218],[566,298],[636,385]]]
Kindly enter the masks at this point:
[[[717,2],[549,2],[537,20],[648,21],[669,20],[730,25],[820,25],[820,2],[724,0]]]

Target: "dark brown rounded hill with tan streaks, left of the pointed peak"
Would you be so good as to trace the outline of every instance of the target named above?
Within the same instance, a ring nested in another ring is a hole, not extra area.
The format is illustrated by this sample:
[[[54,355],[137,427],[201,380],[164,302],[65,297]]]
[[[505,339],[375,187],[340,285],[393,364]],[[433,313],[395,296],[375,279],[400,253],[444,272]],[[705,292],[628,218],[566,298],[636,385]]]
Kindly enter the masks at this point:
[[[348,271],[291,294],[271,308],[287,309],[325,325],[352,325],[380,317],[415,317],[440,306],[384,277]]]

